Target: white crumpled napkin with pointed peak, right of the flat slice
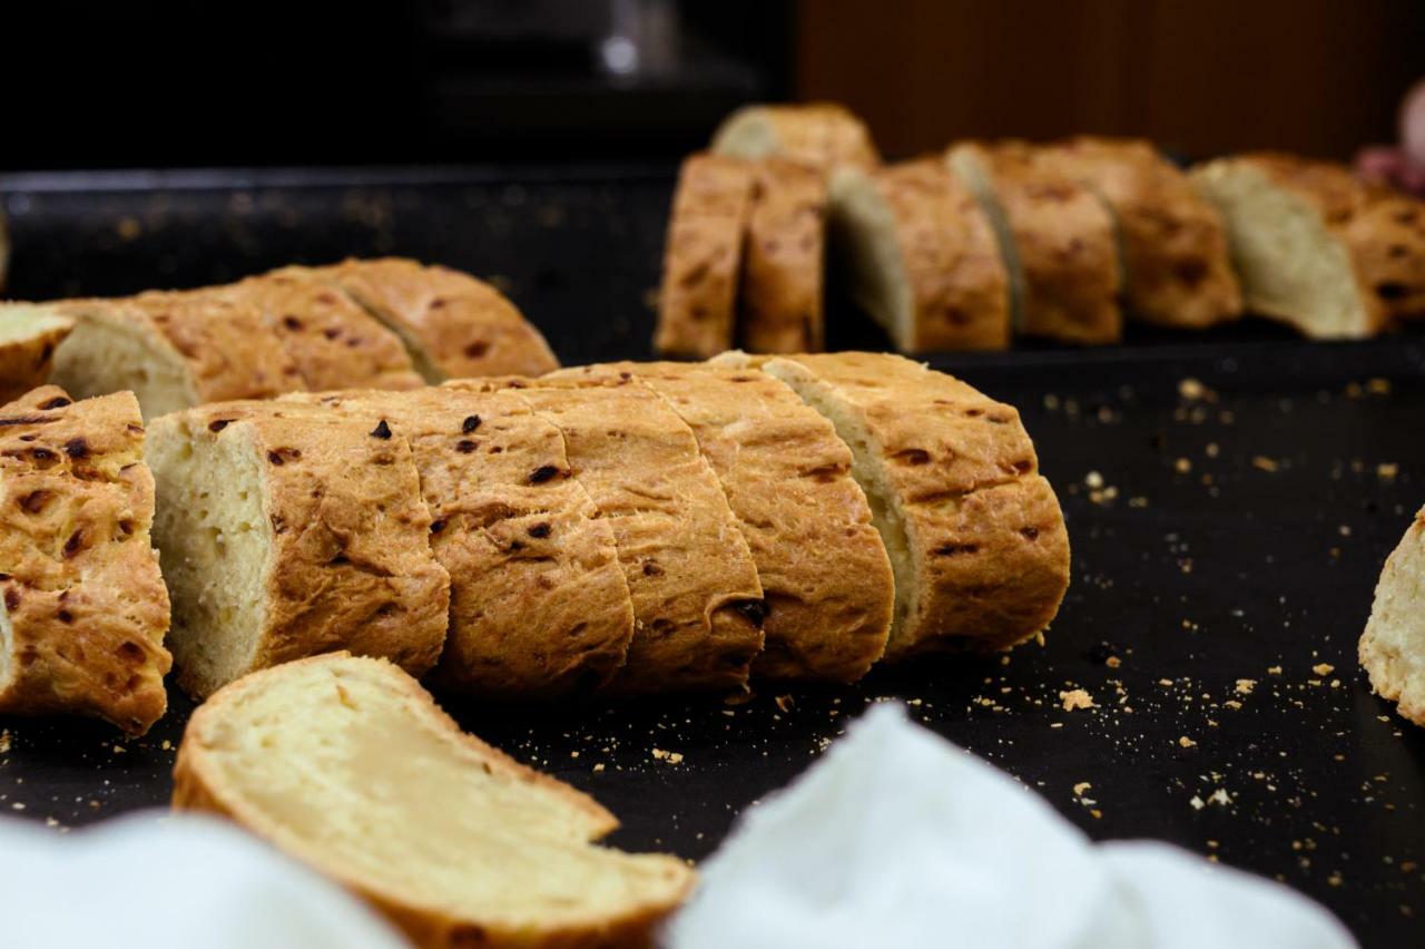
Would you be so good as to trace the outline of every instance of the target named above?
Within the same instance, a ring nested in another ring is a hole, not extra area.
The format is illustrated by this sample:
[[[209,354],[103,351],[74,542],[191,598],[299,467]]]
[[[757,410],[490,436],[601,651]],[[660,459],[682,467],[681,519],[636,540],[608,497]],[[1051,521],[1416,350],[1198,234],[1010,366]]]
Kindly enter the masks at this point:
[[[1151,841],[1093,844],[884,704],[744,812],[671,949],[1348,949],[1325,909]]]

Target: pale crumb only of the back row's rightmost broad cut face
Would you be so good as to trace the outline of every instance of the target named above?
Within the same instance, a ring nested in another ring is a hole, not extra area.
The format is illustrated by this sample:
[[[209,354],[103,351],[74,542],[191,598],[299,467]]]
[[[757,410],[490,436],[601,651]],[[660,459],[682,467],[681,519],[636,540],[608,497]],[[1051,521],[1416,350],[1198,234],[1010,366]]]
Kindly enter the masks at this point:
[[[1314,204],[1244,165],[1213,162],[1193,184],[1223,215],[1250,309],[1308,336],[1372,332],[1351,254]]]

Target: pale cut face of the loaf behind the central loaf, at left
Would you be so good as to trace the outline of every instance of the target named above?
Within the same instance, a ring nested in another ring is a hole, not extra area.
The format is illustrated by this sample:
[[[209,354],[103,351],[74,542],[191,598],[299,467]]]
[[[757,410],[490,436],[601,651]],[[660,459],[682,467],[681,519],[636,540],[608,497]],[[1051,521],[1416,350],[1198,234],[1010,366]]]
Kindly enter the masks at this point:
[[[188,366],[147,323],[74,306],[74,332],[54,353],[56,385],[76,399],[128,389],[145,419],[198,403]]]

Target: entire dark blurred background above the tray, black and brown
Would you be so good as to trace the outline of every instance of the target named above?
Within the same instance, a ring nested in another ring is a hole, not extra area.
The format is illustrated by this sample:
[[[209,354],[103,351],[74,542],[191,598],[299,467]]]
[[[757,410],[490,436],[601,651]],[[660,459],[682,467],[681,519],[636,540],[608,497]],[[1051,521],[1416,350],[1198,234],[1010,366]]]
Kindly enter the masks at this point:
[[[0,168],[674,160],[831,98],[888,157],[1146,135],[1348,158],[1425,74],[1419,0],[0,4]]]

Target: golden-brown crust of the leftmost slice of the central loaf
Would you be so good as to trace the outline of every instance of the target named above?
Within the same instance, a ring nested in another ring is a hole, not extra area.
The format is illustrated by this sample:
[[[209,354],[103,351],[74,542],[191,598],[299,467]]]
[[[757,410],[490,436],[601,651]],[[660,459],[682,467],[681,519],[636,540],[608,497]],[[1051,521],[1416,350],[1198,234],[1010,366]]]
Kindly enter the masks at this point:
[[[445,645],[450,577],[430,553],[409,445],[281,406],[204,405],[154,427],[155,437],[239,442],[261,463],[272,543],[248,671],[349,650],[425,674]],[[178,683],[197,697],[227,684],[182,663]]]

